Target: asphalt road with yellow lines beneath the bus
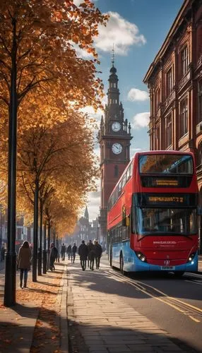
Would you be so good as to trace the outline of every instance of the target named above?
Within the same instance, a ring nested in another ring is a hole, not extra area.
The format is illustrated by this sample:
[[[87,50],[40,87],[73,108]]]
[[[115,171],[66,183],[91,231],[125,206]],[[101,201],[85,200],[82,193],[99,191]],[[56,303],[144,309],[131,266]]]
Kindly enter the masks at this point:
[[[166,330],[184,352],[202,352],[201,274],[186,273],[181,279],[173,275],[123,276],[109,268],[104,257],[102,273],[97,290],[118,293],[133,309]]]

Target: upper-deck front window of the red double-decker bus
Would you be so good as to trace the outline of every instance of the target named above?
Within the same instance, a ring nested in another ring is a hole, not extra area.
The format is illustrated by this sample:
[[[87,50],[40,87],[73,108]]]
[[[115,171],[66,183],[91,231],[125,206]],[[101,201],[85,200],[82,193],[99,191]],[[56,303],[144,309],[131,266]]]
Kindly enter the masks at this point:
[[[193,174],[191,155],[140,155],[141,174]]]

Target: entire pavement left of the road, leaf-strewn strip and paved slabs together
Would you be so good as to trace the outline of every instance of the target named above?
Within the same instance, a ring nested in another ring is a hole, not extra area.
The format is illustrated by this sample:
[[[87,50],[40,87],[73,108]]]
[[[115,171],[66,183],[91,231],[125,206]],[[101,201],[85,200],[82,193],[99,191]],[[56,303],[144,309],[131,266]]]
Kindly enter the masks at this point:
[[[97,290],[105,282],[102,268],[83,273],[77,260],[57,264],[36,283],[31,275],[27,289],[17,275],[18,304],[5,308],[0,273],[0,353],[184,352],[119,295]]]

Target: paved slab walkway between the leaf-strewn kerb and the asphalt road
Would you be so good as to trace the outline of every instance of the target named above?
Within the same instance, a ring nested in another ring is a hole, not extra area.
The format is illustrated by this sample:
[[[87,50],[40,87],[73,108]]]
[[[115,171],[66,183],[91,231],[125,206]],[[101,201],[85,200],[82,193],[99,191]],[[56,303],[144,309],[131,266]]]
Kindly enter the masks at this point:
[[[106,273],[102,273],[102,266],[99,271],[86,270],[83,273],[80,264],[68,265],[71,352],[187,352],[175,345],[165,330],[116,294],[113,278],[112,286],[105,287]]]

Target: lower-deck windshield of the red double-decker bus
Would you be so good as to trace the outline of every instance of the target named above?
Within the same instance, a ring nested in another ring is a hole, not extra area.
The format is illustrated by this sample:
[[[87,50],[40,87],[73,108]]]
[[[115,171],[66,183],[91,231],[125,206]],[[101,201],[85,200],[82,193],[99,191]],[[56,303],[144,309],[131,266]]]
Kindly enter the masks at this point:
[[[196,234],[196,209],[136,208],[138,234]]]

